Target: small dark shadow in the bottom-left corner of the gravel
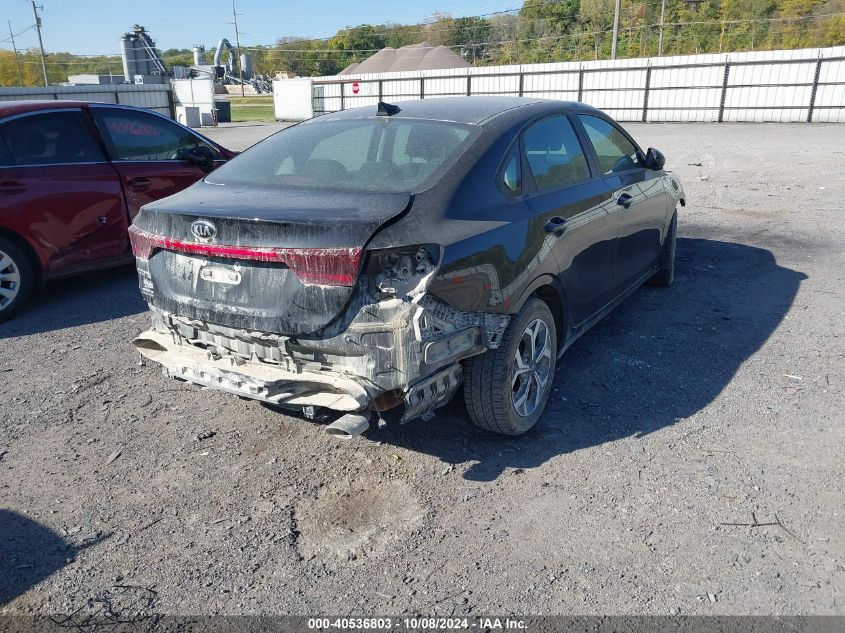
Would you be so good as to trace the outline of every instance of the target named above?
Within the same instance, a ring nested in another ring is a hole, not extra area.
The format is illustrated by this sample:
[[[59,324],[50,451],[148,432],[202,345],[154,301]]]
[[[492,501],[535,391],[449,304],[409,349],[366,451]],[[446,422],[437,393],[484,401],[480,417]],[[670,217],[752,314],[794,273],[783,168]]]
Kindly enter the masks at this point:
[[[51,529],[0,509],[0,606],[64,567],[74,553],[75,548]]]

